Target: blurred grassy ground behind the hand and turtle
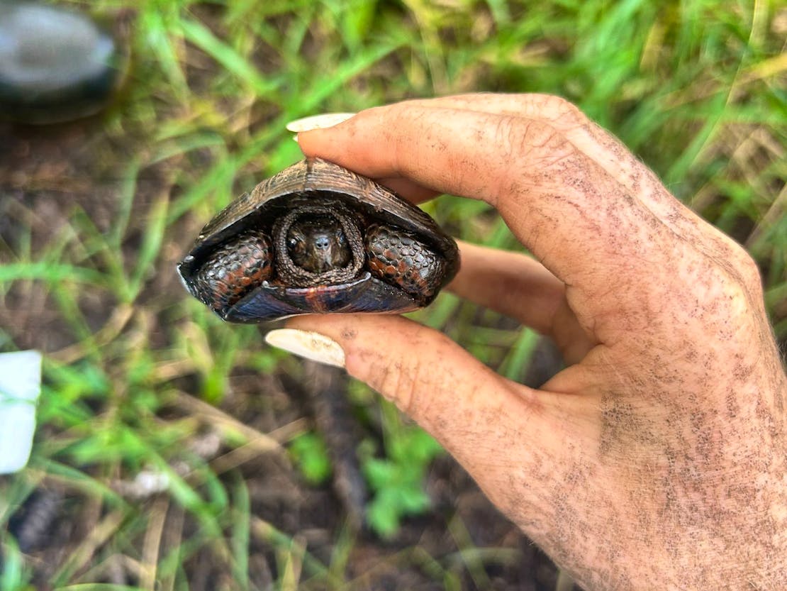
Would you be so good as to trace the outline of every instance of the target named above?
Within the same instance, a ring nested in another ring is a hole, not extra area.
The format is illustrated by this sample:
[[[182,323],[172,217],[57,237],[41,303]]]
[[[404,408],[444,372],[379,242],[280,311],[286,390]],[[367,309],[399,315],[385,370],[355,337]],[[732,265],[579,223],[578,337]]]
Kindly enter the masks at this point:
[[[30,463],[0,477],[3,591],[571,589],[390,404],[179,284],[201,226],[301,158],[297,117],[561,95],[745,245],[787,344],[782,2],[57,6],[116,46],[102,84],[59,106],[0,87],[0,351],[44,353]],[[519,248],[483,203],[424,208]],[[450,294],[411,315],[512,379],[560,369],[549,342]]]

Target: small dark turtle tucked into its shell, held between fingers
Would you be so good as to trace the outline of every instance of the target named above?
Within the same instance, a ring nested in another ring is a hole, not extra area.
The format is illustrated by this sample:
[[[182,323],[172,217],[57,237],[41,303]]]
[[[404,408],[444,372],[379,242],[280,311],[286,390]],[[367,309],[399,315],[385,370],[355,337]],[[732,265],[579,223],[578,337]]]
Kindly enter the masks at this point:
[[[189,292],[228,322],[416,310],[458,269],[456,243],[431,217],[319,158],[235,199],[178,265]]]

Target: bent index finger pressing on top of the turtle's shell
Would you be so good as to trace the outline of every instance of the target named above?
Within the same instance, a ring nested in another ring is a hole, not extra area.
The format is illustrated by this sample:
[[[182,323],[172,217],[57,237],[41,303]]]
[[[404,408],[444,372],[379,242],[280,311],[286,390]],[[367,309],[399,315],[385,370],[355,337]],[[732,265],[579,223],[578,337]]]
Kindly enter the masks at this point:
[[[485,200],[571,292],[578,289],[567,296],[580,308],[619,310],[621,275],[634,264],[637,273],[662,269],[674,235],[562,127],[538,110],[523,117],[405,102],[298,139],[305,154],[370,177]],[[642,294],[630,295],[623,299],[640,305]]]

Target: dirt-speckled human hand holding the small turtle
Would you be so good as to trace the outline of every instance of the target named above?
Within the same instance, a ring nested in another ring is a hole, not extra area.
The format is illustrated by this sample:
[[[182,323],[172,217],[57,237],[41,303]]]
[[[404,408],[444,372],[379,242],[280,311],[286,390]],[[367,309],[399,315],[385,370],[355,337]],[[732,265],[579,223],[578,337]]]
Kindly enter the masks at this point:
[[[555,97],[403,102],[298,141],[413,201],[493,205],[538,262],[463,244],[450,288],[571,365],[534,390],[406,318],[291,329],[335,341],[587,589],[785,585],[787,379],[741,247]]]

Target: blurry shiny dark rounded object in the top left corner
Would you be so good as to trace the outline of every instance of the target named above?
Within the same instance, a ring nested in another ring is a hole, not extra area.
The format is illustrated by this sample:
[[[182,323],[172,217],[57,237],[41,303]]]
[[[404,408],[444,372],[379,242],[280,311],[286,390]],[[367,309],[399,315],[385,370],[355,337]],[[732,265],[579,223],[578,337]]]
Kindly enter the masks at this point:
[[[0,0],[0,117],[43,124],[97,113],[125,63],[113,36],[87,16]]]

